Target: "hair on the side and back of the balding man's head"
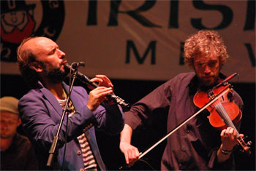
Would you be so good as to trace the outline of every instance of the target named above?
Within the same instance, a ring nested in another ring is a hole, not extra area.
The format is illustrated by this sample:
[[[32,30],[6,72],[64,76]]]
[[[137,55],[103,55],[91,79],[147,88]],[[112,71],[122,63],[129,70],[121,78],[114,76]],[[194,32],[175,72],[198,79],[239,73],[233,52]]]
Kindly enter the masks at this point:
[[[29,38],[23,39],[17,49],[17,60],[20,73],[24,77],[25,81],[29,84],[29,87],[39,88],[41,87],[38,84],[39,76],[37,72],[34,71],[33,68],[31,68],[31,65],[33,65],[34,63],[39,63],[39,61],[37,61],[36,55],[34,55],[34,53],[30,49],[22,50],[23,45],[27,41],[34,38],[37,38],[37,36],[31,36]]]

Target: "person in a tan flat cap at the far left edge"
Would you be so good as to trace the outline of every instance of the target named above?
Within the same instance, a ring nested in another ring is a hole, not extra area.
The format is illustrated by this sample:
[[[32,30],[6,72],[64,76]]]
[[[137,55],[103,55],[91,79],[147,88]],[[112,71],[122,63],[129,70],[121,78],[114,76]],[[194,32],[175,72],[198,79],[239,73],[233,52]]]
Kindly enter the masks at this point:
[[[10,96],[1,98],[0,116],[1,170],[38,170],[29,139],[17,132],[21,124],[18,99]]]

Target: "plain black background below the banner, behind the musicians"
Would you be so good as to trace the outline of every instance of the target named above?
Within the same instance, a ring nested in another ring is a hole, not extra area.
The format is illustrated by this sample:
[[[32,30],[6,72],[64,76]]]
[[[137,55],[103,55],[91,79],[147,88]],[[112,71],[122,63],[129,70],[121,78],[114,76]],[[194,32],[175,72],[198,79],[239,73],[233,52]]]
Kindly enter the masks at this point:
[[[157,88],[165,81],[141,81],[141,80],[120,80],[111,79],[114,84],[115,94],[123,98],[126,103],[135,103],[143,98],[149,92]],[[240,133],[248,136],[248,140],[252,140],[252,154],[246,156],[235,151],[236,169],[237,170],[255,170],[255,83],[232,83],[234,90],[241,95],[244,100],[244,111],[241,122]],[[79,81],[75,81],[75,85],[87,87]],[[19,75],[1,75],[1,97],[14,96],[21,98],[29,87],[26,86],[22,76]],[[23,130],[19,127],[18,132],[23,134]],[[155,118],[154,123],[145,129],[134,132],[132,144],[139,148],[139,151],[145,151],[151,147],[160,138],[166,134],[166,118]],[[118,170],[124,165],[124,155],[119,150],[119,135],[108,136],[102,132],[97,132],[97,140],[99,150],[102,154],[108,170]],[[165,148],[165,141],[154,148],[148,154],[143,156],[143,161],[138,161],[135,165],[126,170],[159,170],[160,159]],[[146,164],[148,163],[148,164]]]

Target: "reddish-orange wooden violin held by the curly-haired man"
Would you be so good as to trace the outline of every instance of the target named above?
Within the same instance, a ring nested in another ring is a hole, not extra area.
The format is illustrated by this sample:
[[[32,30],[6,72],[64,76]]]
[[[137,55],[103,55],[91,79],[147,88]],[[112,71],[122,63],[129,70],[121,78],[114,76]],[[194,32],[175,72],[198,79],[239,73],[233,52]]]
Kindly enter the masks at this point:
[[[220,83],[222,82],[223,80],[220,80]],[[207,105],[212,100],[214,102]],[[232,127],[237,132],[238,144],[242,147],[241,151],[251,154],[251,151],[249,151],[251,142],[245,143],[235,126],[241,120],[242,112],[233,101],[233,89],[230,84],[224,82],[222,86],[214,87],[207,92],[198,91],[193,98],[193,102],[198,108],[207,105],[206,109],[210,112],[210,115],[207,116],[208,121],[217,130]]]

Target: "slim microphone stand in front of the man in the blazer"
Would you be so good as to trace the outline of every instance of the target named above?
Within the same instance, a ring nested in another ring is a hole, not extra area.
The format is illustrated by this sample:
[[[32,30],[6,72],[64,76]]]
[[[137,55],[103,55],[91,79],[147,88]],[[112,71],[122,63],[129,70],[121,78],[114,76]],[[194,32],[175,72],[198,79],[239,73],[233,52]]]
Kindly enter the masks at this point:
[[[66,104],[64,106],[62,115],[61,115],[61,121],[59,123],[59,128],[57,130],[56,136],[53,138],[53,143],[50,146],[49,157],[48,157],[48,162],[47,162],[48,167],[51,166],[52,160],[53,160],[53,155],[56,153],[56,146],[57,146],[57,143],[58,143],[58,140],[59,140],[59,133],[61,131],[61,126],[62,126],[63,121],[64,121],[64,116],[65,116],[66,113],[68,114],[70,112],[70,109],[68,108],[68,104],[69,104],[70,95],[71,95],[71,92],[72,92],[72,88],[74,86],[74,82],[75,82],[75,78],[76,78],[77,73],[78,73],[78,68],[76,68],[74,73],[72,73],[72,82],[69,85],[69,93],[67,95],[67,101],[66,101]]]

